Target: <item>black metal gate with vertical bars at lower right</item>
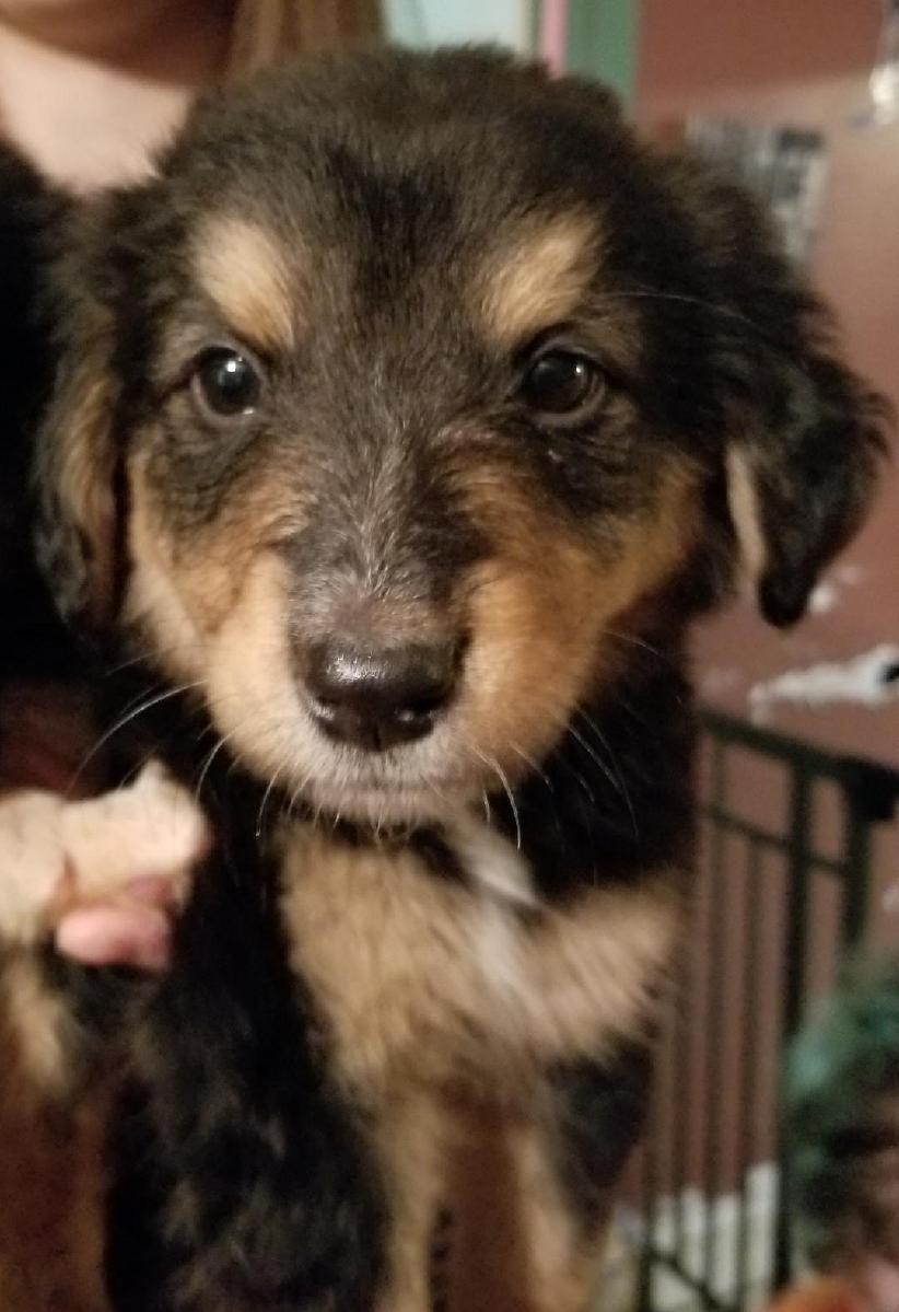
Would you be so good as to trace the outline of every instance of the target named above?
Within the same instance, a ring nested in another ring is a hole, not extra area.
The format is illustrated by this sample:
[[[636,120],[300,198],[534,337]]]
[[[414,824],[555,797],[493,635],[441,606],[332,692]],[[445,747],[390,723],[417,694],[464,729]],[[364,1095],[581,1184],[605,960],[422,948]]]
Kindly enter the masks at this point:
[[[643,1312],[759,1305],[794,1254],[780,1055],[865,934],[899,773],[704,716],[700,895],[630,1212]]]

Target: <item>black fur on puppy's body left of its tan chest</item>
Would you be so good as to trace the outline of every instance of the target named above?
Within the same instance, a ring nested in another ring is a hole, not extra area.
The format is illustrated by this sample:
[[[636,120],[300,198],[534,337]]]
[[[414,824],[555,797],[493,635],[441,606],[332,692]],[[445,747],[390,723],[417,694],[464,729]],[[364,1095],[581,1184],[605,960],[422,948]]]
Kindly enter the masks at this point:
[[[144,1018],[156,1080],[131,1088],[115,1130],[110,1294],[128,1312],[355,1312],[384,1275],[389,1203],[364,1115],[329,1077],[315,998],[286,968],[258,855],[221,833]],[[198,1254],[203,1291],[178,1298]]]

